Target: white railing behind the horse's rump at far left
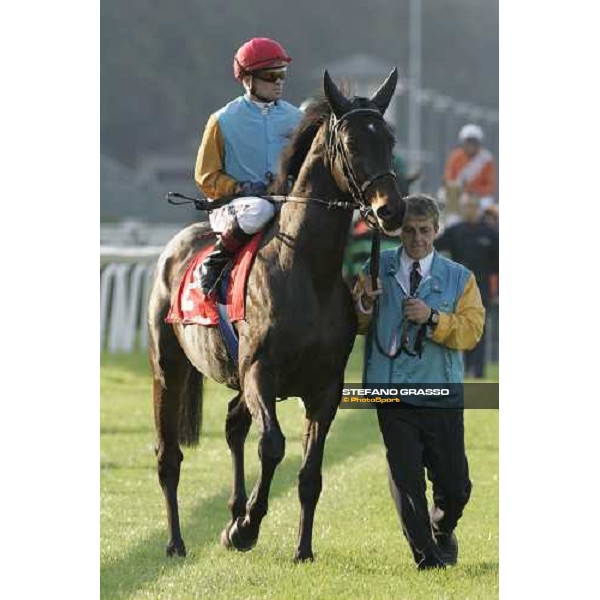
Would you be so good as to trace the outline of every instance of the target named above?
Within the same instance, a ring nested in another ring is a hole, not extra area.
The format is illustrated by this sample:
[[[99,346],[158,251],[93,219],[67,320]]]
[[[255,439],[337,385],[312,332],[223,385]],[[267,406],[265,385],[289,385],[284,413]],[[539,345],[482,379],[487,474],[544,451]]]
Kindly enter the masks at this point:
[[[100,348],[146,348],[148,294],[162,246],[100,248]]]

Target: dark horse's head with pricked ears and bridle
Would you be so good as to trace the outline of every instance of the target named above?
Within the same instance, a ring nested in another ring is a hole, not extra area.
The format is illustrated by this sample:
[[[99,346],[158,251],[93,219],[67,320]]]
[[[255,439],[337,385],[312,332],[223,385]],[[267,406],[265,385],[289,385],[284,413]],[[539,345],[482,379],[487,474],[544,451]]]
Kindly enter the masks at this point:
[[[380,229],[397,231],[404,202],[392,169],[394,136],[383,115],[392,99],[398,71],[394,69],[371,98],[346,98],[325,71],[325,96],[331,107],[327,140],[329,168],[337,186],[366,210]]]

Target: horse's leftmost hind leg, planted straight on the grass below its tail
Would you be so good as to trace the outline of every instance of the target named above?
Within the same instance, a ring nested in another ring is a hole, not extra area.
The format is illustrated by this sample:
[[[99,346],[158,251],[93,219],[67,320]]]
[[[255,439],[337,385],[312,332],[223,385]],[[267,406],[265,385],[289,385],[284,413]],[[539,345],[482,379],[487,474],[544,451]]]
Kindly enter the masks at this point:
[[[161,348],[158,361],[160,372],[154,373],[154,421],[158,434],[156,456],[158,479],[167,505],[167,556],[185,556],[177,504],[177,486],[183,460],[179,447],[180,412],[182,402],[193,393],[190,387],[197,386],[199,378],[179,345],[176,345],[174,335],[171,341],[173,343],[168,349]],[[196,393],[199,394],[200,390],[197,389]]]

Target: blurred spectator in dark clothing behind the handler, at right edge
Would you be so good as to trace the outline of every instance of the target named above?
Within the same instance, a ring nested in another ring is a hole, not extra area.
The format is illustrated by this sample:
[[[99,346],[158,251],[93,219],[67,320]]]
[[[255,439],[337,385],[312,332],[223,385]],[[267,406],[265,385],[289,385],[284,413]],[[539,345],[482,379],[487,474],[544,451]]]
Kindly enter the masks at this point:
[[[464,195],[460,206],[464,221],[448,227],[435,240],[435,248],[473,272],[487,311],[497,295],[498,231],[480,218],[479,206],[477,197]],[[485,335],[484,331],[477,346],[465,352],[465,372],[477,379],[485,372]]]

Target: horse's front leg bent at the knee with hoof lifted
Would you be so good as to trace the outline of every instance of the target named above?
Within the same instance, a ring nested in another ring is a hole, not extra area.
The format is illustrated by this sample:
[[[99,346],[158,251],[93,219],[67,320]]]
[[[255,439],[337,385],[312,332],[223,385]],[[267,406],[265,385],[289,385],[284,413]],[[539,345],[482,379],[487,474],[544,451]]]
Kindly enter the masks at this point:
[[[277,465],[285,454],[285,437],[275,411],[275,389],[272,374],[260,363],[254,363],[244,378],[244,400],[258,427],[260,475],[252,490],[245,517],[240,517],[229,532],[229,541],[237,549],[252,549],[258,541],[260,524],[267,514],[269,490]]]

